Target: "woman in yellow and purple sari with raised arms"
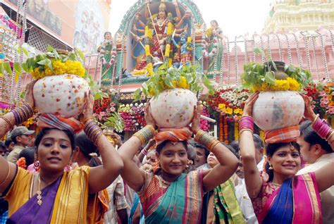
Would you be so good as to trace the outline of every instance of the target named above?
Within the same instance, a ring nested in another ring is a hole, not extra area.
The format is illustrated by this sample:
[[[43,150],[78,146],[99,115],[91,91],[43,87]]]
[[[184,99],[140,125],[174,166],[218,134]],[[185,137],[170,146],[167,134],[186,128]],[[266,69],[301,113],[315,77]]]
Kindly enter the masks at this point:
[[[32,116],[33,85],[27,85],[22,106],[0,117],[1,137]],[[108,187],[123,168],[120,156],[91,119],[93,102],[92,94],[86,94],[84,130],[97,145],[103,165],[64,172],[75,150],[74,132],[82,124],[74,118],[41,116],[37,125],[42,130],[35,140],[39,173],[29,173],[0,158],[0,192],[9,204],[8,223],[87,223],[88,194]]]

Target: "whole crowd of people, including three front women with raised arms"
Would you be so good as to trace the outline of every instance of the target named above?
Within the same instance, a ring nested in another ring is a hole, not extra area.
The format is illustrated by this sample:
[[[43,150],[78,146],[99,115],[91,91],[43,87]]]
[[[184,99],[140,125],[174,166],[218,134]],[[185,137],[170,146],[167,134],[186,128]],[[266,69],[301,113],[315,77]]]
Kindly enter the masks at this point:
[[[247,99],[240,141],[224,144],[199,128],[147,125],[111,142],[93,119],[39,115],[39,132],[20,124],[25,103],[0,116],[1,223],[334,223],[333,129],[304,97],[299,137],[254,134]],[[9,134],[8,134],[9,133]]]

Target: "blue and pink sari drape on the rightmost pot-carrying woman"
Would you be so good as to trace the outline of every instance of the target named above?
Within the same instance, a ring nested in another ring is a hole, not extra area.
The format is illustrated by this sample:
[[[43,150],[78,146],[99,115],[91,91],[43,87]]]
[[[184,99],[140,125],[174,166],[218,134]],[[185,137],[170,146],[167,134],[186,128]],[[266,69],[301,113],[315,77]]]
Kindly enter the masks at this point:
[[[314,173],[285,180],[268,198],[257,218],[259,223],[322,223]]]

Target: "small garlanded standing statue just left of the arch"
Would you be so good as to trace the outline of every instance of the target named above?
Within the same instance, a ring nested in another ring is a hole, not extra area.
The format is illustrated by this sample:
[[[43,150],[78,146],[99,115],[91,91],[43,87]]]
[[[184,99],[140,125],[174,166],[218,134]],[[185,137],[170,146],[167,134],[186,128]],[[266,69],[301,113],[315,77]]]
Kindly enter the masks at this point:
[[[116,49],[113,47],[111,32],[104,33],[104,41],[98,47],[102,68],[101,68],[101,85],[111,85],[111,77],[116,62]]]

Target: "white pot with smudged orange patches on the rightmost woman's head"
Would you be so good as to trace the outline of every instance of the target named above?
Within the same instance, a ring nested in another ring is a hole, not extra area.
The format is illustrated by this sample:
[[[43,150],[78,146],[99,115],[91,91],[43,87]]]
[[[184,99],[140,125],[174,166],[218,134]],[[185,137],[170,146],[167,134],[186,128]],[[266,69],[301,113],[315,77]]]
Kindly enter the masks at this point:
[[[304,100],[293,91],[260,92],[253,106],[254,123],[262,130],[297,125],[304,114]]]

